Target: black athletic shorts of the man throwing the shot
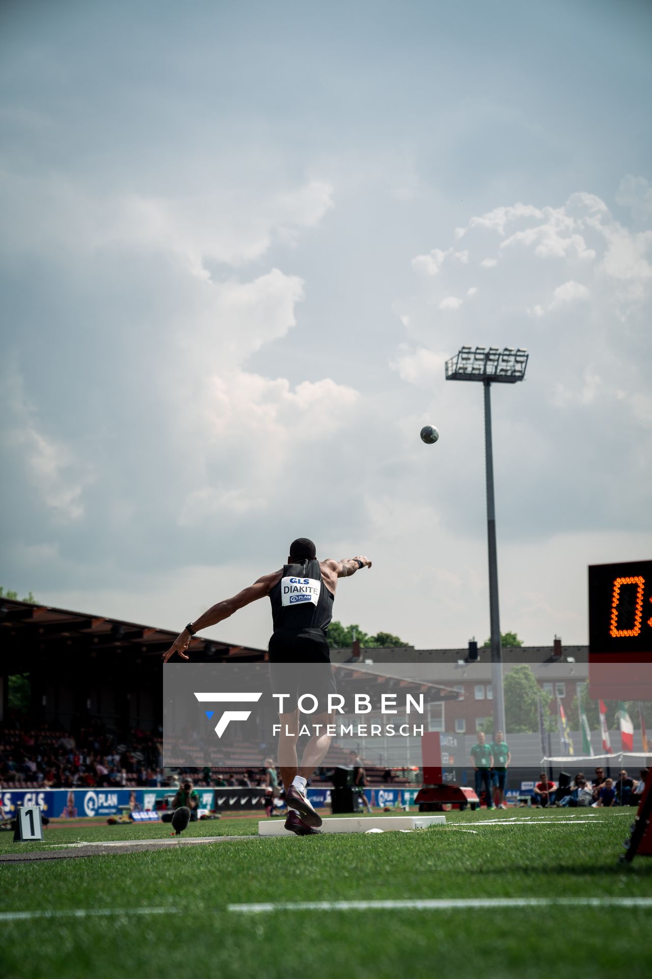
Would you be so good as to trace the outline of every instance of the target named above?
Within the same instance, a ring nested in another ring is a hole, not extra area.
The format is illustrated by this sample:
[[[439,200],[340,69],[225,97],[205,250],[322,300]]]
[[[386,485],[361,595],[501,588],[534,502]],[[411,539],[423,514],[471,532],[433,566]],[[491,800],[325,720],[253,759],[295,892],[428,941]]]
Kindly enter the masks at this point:
[[[270,639],[270,681],[272,693],[285,693],[283,714],[291,714],[297,708],[299,697],[312,694],[317,698],[317,710],[312,711],[314,701],[308,698],[304,708],[312,713],[306,717],[326,714],[327,697],[336,692],[335,677],[330,665],[330,648],[321,629],[302,632],[275,632]],[[280,701],[275,698],[279,709]]]

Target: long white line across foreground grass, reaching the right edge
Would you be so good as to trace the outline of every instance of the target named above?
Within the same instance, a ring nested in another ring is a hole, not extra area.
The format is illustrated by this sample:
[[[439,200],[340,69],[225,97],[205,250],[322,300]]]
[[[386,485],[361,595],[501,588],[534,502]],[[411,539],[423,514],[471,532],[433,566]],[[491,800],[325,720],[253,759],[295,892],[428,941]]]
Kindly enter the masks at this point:
[[[409,901],[299,901],[282,904],[229,905],[230,911],[455,910],[466,908],[652,908],[652,898],[425,898]]]

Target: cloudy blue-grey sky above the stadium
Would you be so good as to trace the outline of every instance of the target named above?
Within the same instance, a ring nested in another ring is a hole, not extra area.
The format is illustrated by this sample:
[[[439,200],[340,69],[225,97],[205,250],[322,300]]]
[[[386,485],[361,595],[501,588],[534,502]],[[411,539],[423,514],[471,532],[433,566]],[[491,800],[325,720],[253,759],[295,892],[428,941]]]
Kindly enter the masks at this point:
[[[340,621],[483,640],[444,363],[521,347],[501,628],[586,642],[587,565],[652,553],[651,42],[634,0],[6,0],[0,584],[182,629],[309,536],[373,562]]]

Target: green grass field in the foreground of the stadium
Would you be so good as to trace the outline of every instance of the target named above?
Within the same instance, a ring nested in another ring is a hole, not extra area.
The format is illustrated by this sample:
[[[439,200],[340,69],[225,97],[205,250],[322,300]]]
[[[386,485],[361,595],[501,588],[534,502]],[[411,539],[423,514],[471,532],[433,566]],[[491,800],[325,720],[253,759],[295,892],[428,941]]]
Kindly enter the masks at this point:
[[[640,955],[652,907],[583,907],[585,898],[652,899],[652,860],[619,864],[633,810],[450,813],[412,833],[216,843],[125,856],[0,864],[0,911],[113,909],[109,916],[0,920],[0,974],[399,979],[648,976]],[[529,822],[505,824],[517,816]],[[499,823],[478,825],[489,818]],[[567,821],[561,821],[567,820]],[[587,821],[584,821],[587,820]],[[192,824],[188,835],[254,835],[257,818]],[[468,832],[468,830],[475,830]],[[168,836],[169,826],[48,830],[48,846]],[[16,852],[9,834],[0,851]],[[23,844],[23,849],[43,849]],[[230,905],[486,899],[483,908],[276,909]],[[497,898],[566,899],[492,907]],[[571,902],[568,903],[568,900]],[[141,913],[135,913],[140,909]],[[152,909],[156,909],[155,911]]]

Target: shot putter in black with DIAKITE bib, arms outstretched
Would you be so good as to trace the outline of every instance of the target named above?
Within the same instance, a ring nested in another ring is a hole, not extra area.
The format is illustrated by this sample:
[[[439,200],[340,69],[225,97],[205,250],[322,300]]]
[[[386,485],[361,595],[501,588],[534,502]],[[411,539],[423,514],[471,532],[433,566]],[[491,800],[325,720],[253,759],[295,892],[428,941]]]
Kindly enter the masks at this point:
[[[332,716],[322,708],[326,695],[335,692],[326,629],[332,618],[337,579],[371,567],[366,557],[318,561],[316,553],[315,544],[307,537],[293,540],[281,571],[263,575],[233,598],[213,605],[189,623],[163,655],[164,663],[174,653],[187,660],[186,650],[199,629],[215,626],[257,598],[270,596],[274,622],[269,643],[272,692],[289,695],[280,701],[283,706],[279,714],[279,765],[288,809],[285,828],[300,836],[315,833],[316,827],[322,825],[322,816],[306,797],[306,782],[321,765],[330,745],[326,725],[332,723]],[[297,701],[302,693],[316,696],[320,706],[319,713],[311,717],[315,735],[305,747],[299,768]]]

